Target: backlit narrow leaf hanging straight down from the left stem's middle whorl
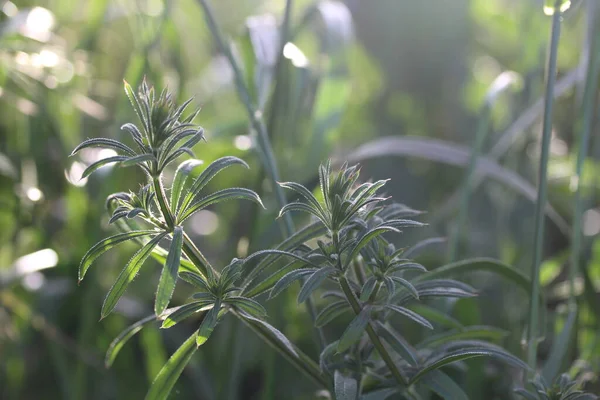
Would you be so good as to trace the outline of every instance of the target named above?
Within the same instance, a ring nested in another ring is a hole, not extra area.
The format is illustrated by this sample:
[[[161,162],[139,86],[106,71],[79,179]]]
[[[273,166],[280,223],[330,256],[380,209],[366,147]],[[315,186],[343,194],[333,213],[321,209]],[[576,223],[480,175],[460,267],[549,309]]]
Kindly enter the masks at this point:
[[[176,226],[173,230],[173,239],[167,260],[162,269],[158,289],[156,290],[156,300],[154,302],[154,312],[161,315],[169,306],[175,285],[177,284],[177,273],[179,272],[179,261],[181,260],[181,246],[183,244],[183,228]]]

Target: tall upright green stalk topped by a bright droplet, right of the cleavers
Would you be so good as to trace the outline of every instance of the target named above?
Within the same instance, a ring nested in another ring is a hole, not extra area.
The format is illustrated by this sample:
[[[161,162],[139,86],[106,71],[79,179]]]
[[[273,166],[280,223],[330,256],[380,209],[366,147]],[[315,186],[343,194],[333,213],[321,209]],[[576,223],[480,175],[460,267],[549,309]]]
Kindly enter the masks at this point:
[[[557,2],[558,4],[558,2]],[[537,356],[537,337],[539,319],[539,293],[540,293],[540,265],[544,248],[544,208],[548,191],[548,155],[550,152],[550,137],[552,134],[552,106],[554,81],[556,78],[556,59],[558,42],[560,39],[560,23],[562,13],[559,7],[552,16],[552,28],[548,62],[546,66],[546,91],[544,98],[544,124],[542,129],[542,148],[540,154],[540,167],[538,177],[538,195],[535,205],[535,246],[533,255],[533,268],[531,272],[531,301],[529,309],[529,332],[527,343],[527,361],[534,371]]]

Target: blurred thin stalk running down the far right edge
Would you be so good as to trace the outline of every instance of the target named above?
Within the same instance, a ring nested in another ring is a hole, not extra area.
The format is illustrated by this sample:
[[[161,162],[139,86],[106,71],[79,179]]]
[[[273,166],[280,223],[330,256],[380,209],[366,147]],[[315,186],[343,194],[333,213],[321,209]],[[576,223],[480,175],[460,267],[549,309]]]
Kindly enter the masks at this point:
[[[590,7],[595,5],[590,2]],[[589,12],[594,14],[592,8]],[[592,15],[593,21],[596,15]],[[579,149],[577,152],[577,163],[575,166],[575,199],[573,210],[573,231],[571,237],[571,268],[569,269],[569,303],[575,304],[575,277],[579,269],[581,256],[581,219],[583,214],[584,200],[581,195],[581,176],[583,173],[583,164],[587,157],[590,145],[590,131],[594,119],[594,103],[598,89],[598,73],[600,72],[600,29],[592,28],[594,33],[589,41],[588,64],[585,78],[585,89],[583,92],[583,101],[581,104],[581,131],[579,137]]]

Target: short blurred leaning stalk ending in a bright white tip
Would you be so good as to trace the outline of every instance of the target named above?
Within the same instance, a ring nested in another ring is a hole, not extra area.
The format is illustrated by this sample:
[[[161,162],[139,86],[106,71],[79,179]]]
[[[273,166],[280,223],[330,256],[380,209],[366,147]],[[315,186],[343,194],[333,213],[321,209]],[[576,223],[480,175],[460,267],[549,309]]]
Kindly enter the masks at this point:
[[[458,248],[461,243],[461,238],[465,231],[465,226],[467,225],[467,218],[469,215],[469,204],[474,186],[473,181],[475,177],[475,166],[477,165],[477,158],[481,153],[481,148],[483,147],[483,143],[485,142],[485,137],[487,136],[489,127],[490,107],[489,104],[486,103],[483,106],[483,109],[481,110],[481,116],[479,117],[479,123],[477,125],[477,131],[475,134],[475,141],[473,143],[473,147],[471,148],[469,167],[465,176],[464,187],[462,188],[461,192],[461,201],[460,208],[458,211],[456,227],[454,229],[454,233],[450,235],[450,243],[448,246],[450,249],[450,253],[448,255],[448,261],[451,263],[456,261],[456,258],[458,256]]]

